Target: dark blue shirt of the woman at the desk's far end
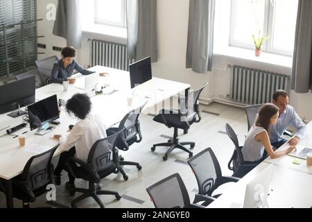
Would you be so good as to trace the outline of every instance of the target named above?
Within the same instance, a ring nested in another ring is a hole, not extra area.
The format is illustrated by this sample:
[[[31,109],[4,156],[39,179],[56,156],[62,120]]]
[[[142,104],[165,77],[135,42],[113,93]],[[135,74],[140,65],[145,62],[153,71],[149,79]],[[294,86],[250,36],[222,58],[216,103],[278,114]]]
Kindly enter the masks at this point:
[[[89,71],[81,67],[76,60],[73,60],[67,67],[64,67],[62,59],[56,61],[51,71],[51,80],[53,83],[62,83],[64,78],[69,78],[73,74],[73,69],[83,75],[93,74],[94,71]]]

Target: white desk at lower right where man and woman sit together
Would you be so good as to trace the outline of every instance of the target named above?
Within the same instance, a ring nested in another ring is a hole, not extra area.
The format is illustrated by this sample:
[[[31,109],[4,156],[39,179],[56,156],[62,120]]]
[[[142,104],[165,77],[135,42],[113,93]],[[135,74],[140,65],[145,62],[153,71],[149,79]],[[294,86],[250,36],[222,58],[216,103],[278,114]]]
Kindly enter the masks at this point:
[[[298,146],[311,147],[312,145],[312,121],[306,127],[307,134]],[[287,147],[288,144],[284,144],[279,149]],[[267,157],[239,182],[229,185],[223,194],[207,208],[243,207],[246,185],[270,164],[277,167],[272,178],[272,184],[277,187],[277,192],[272,198],[270,196],[269,207],[289,207],[291,204],[293,207],[312,207],[312,167],[306,167],[306,160],[299,158],[296,159],[301,161],[300,165],[293,164],[294,159],[295,157],[289,155],[277,159]]]

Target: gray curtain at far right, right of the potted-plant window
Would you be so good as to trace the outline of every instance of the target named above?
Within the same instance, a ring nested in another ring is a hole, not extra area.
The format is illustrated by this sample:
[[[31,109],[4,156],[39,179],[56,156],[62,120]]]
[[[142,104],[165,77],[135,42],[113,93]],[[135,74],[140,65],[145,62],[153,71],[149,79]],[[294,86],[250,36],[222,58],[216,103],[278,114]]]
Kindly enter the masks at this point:
[[[291,89],[305,93],[312,89],[312,1],[299,0]]]

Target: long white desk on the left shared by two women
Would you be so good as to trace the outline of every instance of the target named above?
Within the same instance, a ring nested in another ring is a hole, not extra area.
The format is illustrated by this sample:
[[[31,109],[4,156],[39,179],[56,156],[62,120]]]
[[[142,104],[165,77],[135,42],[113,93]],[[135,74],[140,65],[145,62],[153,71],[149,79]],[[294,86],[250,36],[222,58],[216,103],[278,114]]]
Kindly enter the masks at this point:
[[[53,94],[57,94],[58,99],[69,99],[73,94],[78,92],[87,93],[92,100],[92,111],[96,114],[100,114],[103,117],[103,123],[105,127],[109,128],[121,121],[121,119],[130,110],[139,108],[146,103],[144,108],[149,108],[161,101],[164,101],[175,94],[184,92],[189,89],[189,84],[178,83],[171,80],[165,80],[162,78],[153,78],[152,80],[130,89],[130,77],[127,71],[121,71],[118,69],[111,69],[107,67],[92,67],[91,70],[99,72],[109,72],[110,76],[108,80],[118,91],[112,94],[100,94],[96,95],[92,89],[78,89],[74,85],[69,85],[68,91],[63,91],[63,86],[60,84],[50,84],[39,89],[36,89],[36,100],[44,99]],[[77,74],[76,76],[80,76]],[[100,84],[107,77],[100,77]],[[135,90],[135,97],[131,106],[128,106],[127,96],[131,91]],[[146,98],[148,95],[148,98]],[[16,126],[23,122],[21,117],[12,119],[6,114],[0,114],[0,129],[6,126]],[[23,128],[17,131],[15,134],[20,135],[24,131],[26,133],[26,146],[29,144],[38,144],[43,146],[53,147],[58,144],[58,141],[51,139],[54,134],[66,135],[68,126],[75,124],[77,119],[70,117],[64,110],[60,112],[60,125],[57,126],[51,133],[44,136],[35,135],[35,130],[30,131],[30,128]],[[7,207],[13,207],[12,198],[12,178],[19,175],[29,160],[29,158],[37,153],[30,153],[24,151],[24,148],[19,148],[18,138],[12,138],[10,135],[4,135],[0,137],[0,179],[3,181],[6,187],[6,203]],[[54,155],[62,153],[58,148]]]

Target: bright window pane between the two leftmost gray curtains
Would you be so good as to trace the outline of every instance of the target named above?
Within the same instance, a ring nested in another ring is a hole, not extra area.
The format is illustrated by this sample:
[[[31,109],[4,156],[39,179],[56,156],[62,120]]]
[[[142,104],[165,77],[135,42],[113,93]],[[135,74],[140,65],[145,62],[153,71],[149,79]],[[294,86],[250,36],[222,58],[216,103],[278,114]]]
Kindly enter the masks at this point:
[[[95,0],[94,23],[126,27],[125,0]]]

